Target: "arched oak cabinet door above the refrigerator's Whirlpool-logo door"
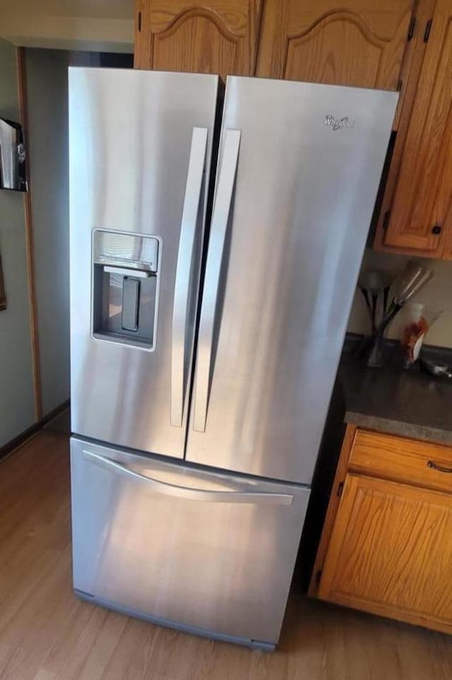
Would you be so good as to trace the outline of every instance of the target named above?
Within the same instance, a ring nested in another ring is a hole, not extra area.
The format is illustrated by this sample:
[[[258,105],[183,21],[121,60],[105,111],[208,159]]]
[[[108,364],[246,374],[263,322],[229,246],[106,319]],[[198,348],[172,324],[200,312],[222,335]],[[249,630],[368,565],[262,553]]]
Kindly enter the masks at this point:
[[[257,75],[397,90],[415,0],[267,0]]]

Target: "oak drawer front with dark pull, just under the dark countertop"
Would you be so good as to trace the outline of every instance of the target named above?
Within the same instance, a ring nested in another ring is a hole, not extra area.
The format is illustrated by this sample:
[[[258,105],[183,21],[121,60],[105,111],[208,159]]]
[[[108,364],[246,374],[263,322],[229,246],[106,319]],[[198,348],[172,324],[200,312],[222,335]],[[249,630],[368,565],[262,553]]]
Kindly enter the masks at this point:
[[[452,447],[358,430],[350,455],[350,470],[452,491]]]

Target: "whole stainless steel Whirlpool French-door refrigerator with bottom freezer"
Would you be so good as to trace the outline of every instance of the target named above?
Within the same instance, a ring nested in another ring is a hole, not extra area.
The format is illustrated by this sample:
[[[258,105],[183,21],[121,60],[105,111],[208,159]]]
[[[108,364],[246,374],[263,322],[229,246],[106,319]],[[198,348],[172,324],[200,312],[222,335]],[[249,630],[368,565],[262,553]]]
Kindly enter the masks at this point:
[[[73,585],[265,648],[397,95],[219,87],[70,69]]]

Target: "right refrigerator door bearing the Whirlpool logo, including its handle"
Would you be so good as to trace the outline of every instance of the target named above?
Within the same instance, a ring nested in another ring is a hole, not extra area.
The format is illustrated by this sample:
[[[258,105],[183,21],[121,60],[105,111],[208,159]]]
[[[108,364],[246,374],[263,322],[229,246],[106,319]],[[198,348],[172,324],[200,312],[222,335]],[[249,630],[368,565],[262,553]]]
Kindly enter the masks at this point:
[[[397,99],[228,78],[187,460],[311,482]]]

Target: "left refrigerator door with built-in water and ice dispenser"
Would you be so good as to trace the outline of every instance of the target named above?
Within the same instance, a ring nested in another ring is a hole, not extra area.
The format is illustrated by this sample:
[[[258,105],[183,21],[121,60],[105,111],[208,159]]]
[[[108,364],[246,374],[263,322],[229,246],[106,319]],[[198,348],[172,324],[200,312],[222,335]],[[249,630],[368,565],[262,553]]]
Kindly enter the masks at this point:
[[[71,68],[73,431],[182,458],[218,78]]]

